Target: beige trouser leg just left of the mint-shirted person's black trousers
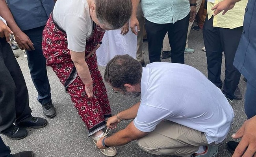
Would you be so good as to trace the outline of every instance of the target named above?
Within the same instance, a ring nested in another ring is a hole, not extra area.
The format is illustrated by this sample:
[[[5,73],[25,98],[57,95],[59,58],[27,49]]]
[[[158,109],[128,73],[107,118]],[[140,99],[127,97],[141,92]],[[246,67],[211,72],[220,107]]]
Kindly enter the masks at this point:
[[[144,19],[144,15],[141,9],[141,3],[139,3],[138,5],[138,9],[137,9],[137,19],[139,21],[139,27],[141,27],[141,30],[138,31],[138,35],[137,35],[137,61],[140,63],[145,62],[144,61],[144,57],[143,57],[143,53],[142,53],[142,48],[143,48],[143,28],[144,28],[144,24],[145,24],[145,19]]]

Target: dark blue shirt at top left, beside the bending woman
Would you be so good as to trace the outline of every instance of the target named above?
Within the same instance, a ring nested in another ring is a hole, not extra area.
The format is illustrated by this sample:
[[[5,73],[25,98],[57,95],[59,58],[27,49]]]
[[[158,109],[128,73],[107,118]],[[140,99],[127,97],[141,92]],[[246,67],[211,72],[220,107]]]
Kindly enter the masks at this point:
[[[55,4],[53,0],[6,0],[6,2],[22,31],[45,26]]]

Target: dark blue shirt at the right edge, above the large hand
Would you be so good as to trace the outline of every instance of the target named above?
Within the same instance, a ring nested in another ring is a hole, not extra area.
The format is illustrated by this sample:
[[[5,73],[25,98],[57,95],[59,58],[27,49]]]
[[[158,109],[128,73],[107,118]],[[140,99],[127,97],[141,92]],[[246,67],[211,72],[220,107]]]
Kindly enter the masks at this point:
[[[256,88],[256,1],[245,8],[243,33],[237,47],[234,66]]]

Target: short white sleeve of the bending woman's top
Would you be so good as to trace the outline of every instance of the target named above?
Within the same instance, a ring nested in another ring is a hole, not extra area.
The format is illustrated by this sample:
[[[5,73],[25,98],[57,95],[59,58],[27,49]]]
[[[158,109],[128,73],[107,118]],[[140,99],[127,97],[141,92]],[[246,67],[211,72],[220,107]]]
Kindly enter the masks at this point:
[[[68,49],[76,52],[85,51],[87,32],[89,31],[83,16],[69,13],[64,18],[64,30],[67,33]]]

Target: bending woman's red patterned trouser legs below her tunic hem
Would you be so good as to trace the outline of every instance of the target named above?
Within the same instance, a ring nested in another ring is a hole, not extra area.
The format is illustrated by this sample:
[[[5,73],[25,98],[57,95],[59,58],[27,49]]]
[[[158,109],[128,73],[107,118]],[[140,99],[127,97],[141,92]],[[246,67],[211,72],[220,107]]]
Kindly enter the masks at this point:
[[[105,119],[111,117],[108,95],[98,70],[96,55],[86,59],[93,79],[93,99],[88,99],[84,84],[77,75],[68,86],[68,91],[78,114],[89,130],[89,136],[106,127]]]

